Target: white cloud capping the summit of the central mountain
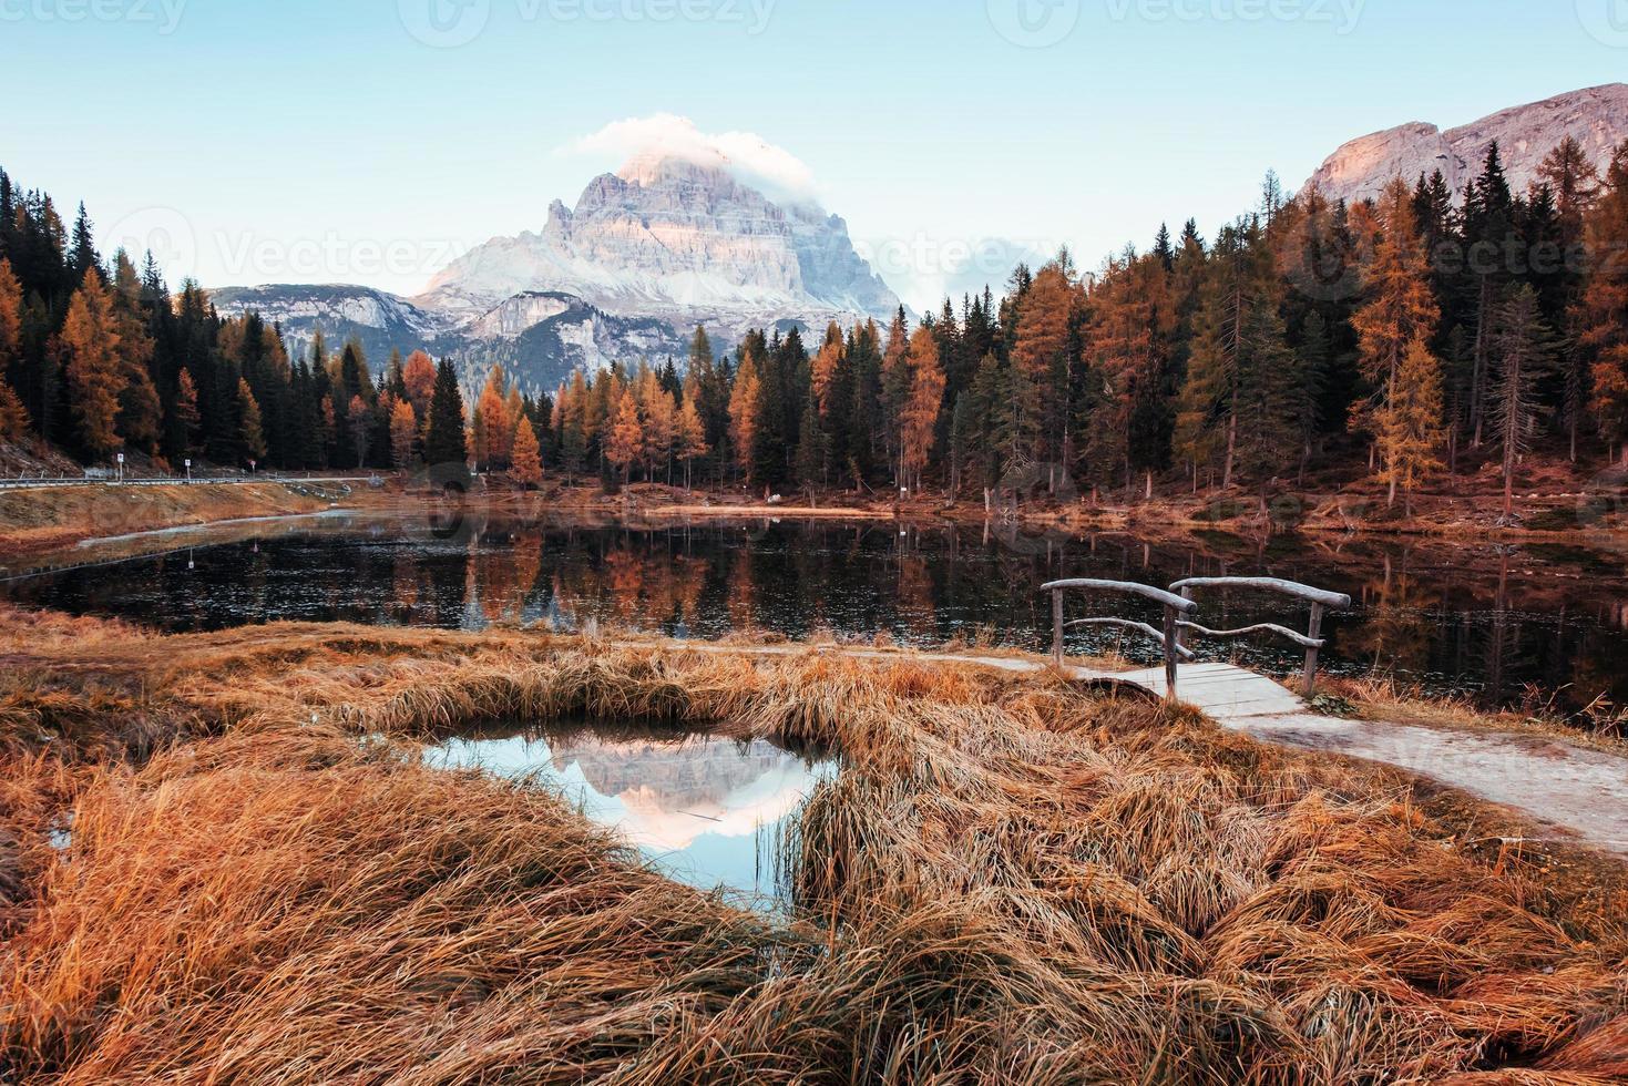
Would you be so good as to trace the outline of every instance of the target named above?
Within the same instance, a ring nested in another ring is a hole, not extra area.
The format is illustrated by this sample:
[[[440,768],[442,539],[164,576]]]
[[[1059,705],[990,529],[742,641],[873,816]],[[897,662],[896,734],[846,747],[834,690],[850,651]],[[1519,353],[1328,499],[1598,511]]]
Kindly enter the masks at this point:
[[[724,166],[737,181],[773,200],[819,202],[814,171],[783,147],[751,132],[702,132],[689,117],[669,112],[614,120],[555,153],[614,156],[619,161],[646,155],[682,158],[703,166]]]

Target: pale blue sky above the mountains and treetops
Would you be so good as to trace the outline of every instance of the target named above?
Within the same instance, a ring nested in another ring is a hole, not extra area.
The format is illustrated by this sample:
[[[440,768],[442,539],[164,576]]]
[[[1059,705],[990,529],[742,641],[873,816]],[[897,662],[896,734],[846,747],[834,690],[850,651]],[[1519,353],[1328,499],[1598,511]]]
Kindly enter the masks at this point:
[[[0,0],[0,166],[173,282],[412,295],[659,134],[814,195],[925,308],[1628,80],[1628,0]]]

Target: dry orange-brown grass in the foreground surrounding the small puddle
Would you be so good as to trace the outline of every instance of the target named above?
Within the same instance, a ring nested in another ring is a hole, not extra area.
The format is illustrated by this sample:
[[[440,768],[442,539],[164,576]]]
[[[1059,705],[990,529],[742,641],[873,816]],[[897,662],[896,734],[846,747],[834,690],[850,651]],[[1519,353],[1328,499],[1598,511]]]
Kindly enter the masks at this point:
[[[1621,917],[1460,855],[1390,777],[1192,715],[812,650],[52,630],[11,651],[75,726],[41,742],[37,707],[0,715],[5,1081],[1574,1086],[1628,1066]],[[552,796],[410,742],[581,713],[840,747],[788,834],[796,920],[679,887]]]

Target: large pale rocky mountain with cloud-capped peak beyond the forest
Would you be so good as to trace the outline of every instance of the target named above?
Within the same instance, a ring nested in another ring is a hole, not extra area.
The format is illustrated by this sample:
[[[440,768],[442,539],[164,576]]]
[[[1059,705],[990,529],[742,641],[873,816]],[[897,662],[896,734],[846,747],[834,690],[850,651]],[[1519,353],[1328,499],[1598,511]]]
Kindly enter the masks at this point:
[[[412,300],[366,287],[213,291],[228,316],[259,311],[293,352],[316,332],[355,337],[376,368],[391,348],[453,357],[466,374],[501,363],[526,391],[571,370],[640,358],[681,361],[697,324],[728,348],[754,327],[889,319],[899,296],[855,251],[842,218],[781,207],[728,163],[641,156],[555,200],[540,233],[493,238]]]

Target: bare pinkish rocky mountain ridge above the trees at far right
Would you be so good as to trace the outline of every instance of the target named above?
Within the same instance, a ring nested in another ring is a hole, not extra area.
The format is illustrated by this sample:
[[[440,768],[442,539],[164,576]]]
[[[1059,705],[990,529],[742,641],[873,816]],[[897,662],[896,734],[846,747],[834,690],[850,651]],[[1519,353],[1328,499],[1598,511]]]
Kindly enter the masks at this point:
[[[1454,194],[1462,194],[1498,140],[1509,184],[1519,192],[1537,179],[1543,156],[1566,135],[1604,164],[1612,148],[1628,140],[1628,85],[1610,83],[1514,106],[1447,132],[1413,122],[1364,135],[1330,155],[1311,181],[1328,197],[1354,204],[1377,199],[1398,174],[1413,182],[1441,169]]]

